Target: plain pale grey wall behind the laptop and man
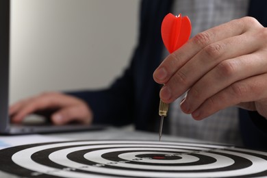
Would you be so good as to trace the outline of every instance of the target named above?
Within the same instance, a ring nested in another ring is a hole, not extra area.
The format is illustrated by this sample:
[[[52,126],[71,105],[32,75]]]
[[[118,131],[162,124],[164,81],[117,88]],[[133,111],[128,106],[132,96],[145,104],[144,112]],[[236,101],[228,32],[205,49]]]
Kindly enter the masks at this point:
[[[139,0],[12,0],[10,103],[107,87],[136,44]]]

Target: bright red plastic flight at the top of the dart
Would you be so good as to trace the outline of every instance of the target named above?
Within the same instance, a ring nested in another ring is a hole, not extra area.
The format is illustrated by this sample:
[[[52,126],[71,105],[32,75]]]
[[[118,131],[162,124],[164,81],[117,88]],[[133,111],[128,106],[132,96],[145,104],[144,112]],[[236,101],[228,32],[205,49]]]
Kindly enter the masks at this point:
[[[188,16],[167,14],[162,21],[162,40],[166,49],[173,53],[185,44],[191,34],[191,23]]]

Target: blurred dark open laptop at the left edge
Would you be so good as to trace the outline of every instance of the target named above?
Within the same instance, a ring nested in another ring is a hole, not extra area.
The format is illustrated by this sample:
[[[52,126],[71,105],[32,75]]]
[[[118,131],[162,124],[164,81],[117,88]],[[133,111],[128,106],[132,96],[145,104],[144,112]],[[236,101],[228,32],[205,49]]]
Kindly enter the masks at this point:
[[[55,133],[104,129],[105,125],[53,125],[27,123],[13,125],[8,116],[10,75],[10,1],[0,1],[0,134]],[[31,119],[34,120],[34,119]],[[40,120],[39,118],[36,120]]]

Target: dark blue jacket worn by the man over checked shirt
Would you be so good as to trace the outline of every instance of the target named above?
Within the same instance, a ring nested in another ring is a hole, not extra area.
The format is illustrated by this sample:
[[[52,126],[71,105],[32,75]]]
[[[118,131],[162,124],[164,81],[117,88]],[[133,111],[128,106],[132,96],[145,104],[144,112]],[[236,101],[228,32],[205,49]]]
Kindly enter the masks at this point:
[[[71,93],[90,105],[94,112],[94,123],[112,125],[134,123],[136,129],[146,131],[157,128],[160,85],[153,81],[152,75],[162,61],[164,45],[160,26],[164,16],[170,12],[172,3],[171,0],[141,1],[138,45],[131,64],[110,88]],[[254,16],[266,26],[267,1],[251,1],[248,15]],[[240,127],[247,147],[267,149],[265,118],[259,116],[257,112],[240,110]]]

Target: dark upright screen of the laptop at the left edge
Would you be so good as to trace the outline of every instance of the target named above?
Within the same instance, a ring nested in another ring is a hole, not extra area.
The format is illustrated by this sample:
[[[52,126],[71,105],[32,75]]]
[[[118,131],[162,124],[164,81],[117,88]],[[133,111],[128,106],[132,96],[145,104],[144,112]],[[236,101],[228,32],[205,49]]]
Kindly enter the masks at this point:
[[[0,1],[0,131],[8,125],[10,0]]]

